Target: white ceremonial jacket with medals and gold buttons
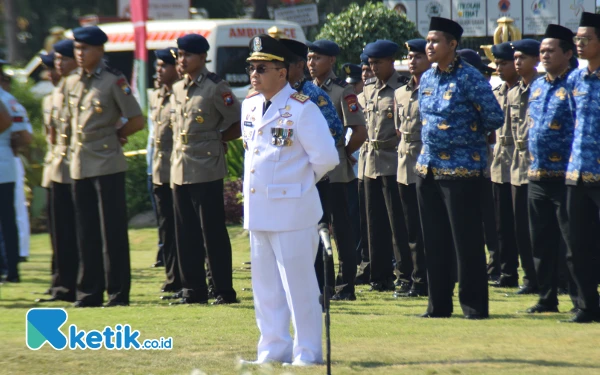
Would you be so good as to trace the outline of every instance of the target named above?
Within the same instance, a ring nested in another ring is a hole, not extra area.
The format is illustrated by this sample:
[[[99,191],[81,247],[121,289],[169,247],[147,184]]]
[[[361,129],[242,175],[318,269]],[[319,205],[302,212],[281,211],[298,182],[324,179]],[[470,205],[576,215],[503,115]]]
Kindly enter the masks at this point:
[[[262,116],[262,94],[242,103],[244,228],[293,231],[316,225],[323,211],[315,184],[339,163],[327,121],[289,84]]]

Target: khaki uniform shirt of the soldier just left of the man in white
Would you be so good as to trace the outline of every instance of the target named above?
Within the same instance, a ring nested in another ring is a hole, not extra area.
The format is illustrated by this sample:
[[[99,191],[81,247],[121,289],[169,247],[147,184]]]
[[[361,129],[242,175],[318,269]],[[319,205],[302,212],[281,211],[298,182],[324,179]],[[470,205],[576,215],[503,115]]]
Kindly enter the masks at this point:
[[[216,181],[227,175],[221,131],[240,121],[241,105],[226,81],[202,69],[173,85],[175,109],[171,184]]]

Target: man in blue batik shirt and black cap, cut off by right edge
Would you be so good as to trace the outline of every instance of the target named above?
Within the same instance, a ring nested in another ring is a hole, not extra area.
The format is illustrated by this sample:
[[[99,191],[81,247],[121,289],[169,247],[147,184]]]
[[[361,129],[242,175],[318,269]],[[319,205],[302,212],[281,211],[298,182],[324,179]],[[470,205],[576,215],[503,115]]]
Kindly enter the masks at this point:
[[[597,230],[600,207],[600,14],[584,12],[573,38],[587,68],[569,77],[575,101],[575,136],[567,168],[567,244],[570,269],[577,285],[577,313],[573,323],[600,322],[598,306]]]

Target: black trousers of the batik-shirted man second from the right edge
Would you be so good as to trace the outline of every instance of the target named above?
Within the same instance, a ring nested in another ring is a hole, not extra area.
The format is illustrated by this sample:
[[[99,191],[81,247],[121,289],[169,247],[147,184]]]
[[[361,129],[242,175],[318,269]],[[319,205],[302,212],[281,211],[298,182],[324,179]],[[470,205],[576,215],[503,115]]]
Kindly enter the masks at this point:
[[[529,230],[539,287],[539,304],[557,306],[562,239],[569,243],[567,188],[564,181],[530,181]],[[562,238],[561,238],[562,237]]]

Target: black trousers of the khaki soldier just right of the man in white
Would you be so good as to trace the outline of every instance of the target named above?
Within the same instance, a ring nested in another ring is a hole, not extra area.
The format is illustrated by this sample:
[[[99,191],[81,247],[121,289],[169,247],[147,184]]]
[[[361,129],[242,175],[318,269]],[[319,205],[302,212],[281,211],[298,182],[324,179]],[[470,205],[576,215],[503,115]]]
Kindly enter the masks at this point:
[[[343,293],[354,293],[354,279],[356,277],[356,242],[352,224],[348,214],[348,187],[345,183],[331,183],[329,180],[322,180],[317,183],[317,191],[321,199],[323,208],[323,217],[319,223],[331,223],[333,227],[333,239],[338,251],[338,275],[335,278],[337,286],[344,287],[340,289]],[[323,244],[319,242],[317,258],[315,259],[315,271],[317,272],[317,281],[319,288],[322,289],[324,282],[323,263]],[[333,264],[330,262],[330,268],[327,269],[328,284],[333,286]]]

